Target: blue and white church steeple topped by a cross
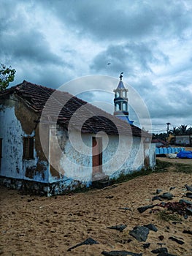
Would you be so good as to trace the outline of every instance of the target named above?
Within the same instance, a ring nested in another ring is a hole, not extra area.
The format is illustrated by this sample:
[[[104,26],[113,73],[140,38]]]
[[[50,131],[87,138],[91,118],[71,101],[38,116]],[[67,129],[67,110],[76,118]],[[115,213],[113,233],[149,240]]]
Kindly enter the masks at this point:
[[[128,118],[128,89],[125,88],[122,78],[123,72],[120,73],[120,81],[118,83],[118,87],[114,90],[114,116],[128,121],[129,124],[133,124],[134,121],[130,121]]]

